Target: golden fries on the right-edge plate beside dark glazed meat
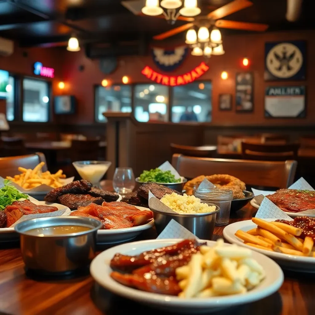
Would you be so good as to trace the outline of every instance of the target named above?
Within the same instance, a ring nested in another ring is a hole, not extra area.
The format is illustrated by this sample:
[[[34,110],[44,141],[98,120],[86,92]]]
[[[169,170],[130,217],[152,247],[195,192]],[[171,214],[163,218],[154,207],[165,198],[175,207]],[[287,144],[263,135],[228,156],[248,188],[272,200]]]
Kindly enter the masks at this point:
[[[246,245],[289,255],[315,257],[313,239],[309,236],[299,238],[302,234],[300,228],[258,218],[253,218],[252,221],[257,224],[257,228],[247,232],[238,230],[235,233]]]

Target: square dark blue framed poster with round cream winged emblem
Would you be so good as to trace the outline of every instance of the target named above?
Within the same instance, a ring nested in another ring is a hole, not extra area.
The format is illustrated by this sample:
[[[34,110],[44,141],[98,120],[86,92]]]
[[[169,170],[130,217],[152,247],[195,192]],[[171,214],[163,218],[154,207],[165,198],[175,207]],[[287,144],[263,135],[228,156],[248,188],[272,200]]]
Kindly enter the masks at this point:
[[[265,81],[305,80],[306,42],[265,43]]]

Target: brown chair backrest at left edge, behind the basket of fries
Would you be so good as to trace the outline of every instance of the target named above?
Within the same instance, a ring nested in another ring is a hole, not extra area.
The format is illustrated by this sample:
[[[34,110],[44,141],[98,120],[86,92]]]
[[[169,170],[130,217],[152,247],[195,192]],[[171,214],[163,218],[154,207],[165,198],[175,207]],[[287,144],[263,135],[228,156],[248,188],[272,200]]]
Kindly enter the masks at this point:
[[[6,176],[13,177],[14,175],[20,174],[18,167],[21,166],[26,169],[34,169],[34,167],[40,162],[45,162],[42,170],[44,172],[47,171],[46,158],[41,152],[15,157],[1,157],[0,176],[3,178],[5,178]]]

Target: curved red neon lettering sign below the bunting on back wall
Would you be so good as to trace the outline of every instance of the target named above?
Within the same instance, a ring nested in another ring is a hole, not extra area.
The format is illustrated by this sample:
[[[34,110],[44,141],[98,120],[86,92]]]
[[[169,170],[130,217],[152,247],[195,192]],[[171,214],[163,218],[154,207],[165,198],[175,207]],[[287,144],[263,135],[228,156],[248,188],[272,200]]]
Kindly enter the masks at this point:
[[[141,73],[145,75],[148,79],[155,81],[156,83],[176,86],[191,83],[195,81],[198,77],[201,77],[208,70],[209,66],[202,62],[192,71],[182,74],[180,76],[166,76],[161,73],[155,72],[149,66],[145,66]]]

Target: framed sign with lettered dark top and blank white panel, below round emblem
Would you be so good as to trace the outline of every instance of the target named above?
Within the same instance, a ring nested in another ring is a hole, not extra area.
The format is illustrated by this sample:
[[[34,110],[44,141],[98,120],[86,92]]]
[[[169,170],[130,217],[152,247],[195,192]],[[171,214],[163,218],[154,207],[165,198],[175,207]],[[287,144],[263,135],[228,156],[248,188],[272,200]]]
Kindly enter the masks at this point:
[[[305,117],[305,86],[270,86],[265,91],[265,117]]]

